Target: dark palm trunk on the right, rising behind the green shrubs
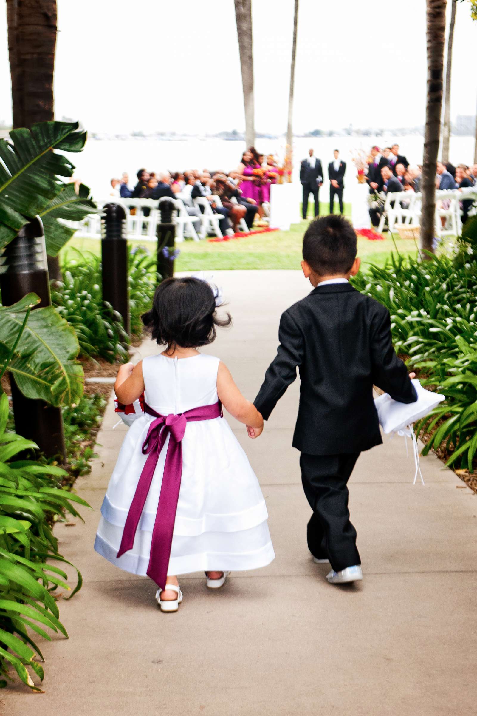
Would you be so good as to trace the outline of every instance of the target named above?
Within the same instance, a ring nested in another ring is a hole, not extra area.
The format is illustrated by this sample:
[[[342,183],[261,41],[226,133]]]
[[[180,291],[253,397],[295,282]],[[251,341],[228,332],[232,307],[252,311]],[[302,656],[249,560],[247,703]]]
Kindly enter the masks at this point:
[[[427,0],[428,79],[421,215],[421,249],[433,251],[436,214],[436,166],[441,133],[446,0]],[[423,258],[426,258],[423,255]]]

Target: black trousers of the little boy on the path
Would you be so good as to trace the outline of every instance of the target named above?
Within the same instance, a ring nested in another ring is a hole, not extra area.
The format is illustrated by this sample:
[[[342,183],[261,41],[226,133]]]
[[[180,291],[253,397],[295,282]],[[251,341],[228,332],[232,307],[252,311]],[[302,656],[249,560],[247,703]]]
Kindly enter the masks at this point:
[[[300,456],[303,489],[313,509],[308,548],[319,559],[329,558],[337,572],[361,563],[348,511],[348,480],[359,455]]]

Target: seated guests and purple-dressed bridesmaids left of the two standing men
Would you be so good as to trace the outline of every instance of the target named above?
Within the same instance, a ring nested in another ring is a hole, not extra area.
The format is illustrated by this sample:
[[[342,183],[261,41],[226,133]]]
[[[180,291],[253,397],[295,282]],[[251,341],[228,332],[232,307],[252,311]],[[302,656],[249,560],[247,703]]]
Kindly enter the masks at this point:
[[[192,217],[192,223],[197,222],[197,228],[200,213],[205,210],[203,204],[195,204],[195,199],[205,198],[213,213],[220,216],[222,234],[231,236],[238,231],[242,219],[249,230],[254,222],[255,226],[265,226],[262,218],[270,213],[270,185],[285,174],[285,169],[277,165],[273,155],[265,158],[255,147],[250,147],[242,154],[237,167],[228,173],[208,169],[156,173],[142,168],[137,172],[134,187],[129,184],[127,173],[123,173],[121,179],[113,178],[110,195],[123,199],[180,199]]]

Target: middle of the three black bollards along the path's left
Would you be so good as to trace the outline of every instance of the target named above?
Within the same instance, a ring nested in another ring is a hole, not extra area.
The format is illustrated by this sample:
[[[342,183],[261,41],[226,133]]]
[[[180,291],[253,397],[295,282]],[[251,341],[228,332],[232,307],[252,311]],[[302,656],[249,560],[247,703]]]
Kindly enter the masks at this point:
[[[103,301],[121,314],[124,330],[129,334],[129,256],[124,221],[126,212],[120,204],[104,206],[101,240]]]

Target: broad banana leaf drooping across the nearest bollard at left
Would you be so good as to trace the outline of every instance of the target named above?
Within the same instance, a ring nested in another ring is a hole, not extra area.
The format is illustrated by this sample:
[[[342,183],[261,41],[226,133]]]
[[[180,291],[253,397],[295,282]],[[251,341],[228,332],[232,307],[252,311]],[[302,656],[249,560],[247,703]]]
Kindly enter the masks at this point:
[[[6,369],[26,397],[72,405],[84,386],[77,335],[53,306],[31,311],[25,321],[26,311],[39,300],[28,294],[13,306],[0,306],[0,364],[8,363]]]

